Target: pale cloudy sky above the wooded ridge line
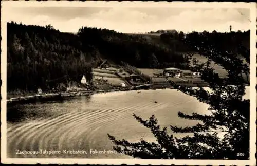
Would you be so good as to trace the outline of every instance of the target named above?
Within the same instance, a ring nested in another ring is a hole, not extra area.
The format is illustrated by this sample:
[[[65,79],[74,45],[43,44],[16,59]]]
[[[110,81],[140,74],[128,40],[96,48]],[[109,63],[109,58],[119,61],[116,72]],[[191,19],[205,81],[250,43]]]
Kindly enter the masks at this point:
[[[170,7],[10,7],[7,21],[48,25],[62,32],[78,32],[82,26],[123,33],[160,29],[177,31],[229,31],[250,29],[250,10],[240,8]]]

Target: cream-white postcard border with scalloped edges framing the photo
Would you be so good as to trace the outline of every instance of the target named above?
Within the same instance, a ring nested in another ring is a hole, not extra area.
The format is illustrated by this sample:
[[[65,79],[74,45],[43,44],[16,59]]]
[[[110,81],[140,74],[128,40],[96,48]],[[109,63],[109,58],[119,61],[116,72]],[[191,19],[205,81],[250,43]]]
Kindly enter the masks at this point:
[[[256,3],[220,3],[220,2],[68,2],[68,1],[1,1],[1,162],[9,164],[163,164],[163,165],[256,165],[255,153],[256,153]],[[43,6],[69,6],[69,7],[171,7],[171,8],[249,8],[251,17],[251,39],[250,39],[250,160],[143,160],[143,159],[57,159],[57,158],[7,158],[7,137],[6,137],[6,48],[7,48],[7,24],[5,15],[8,14],[8,7],[10,6],[26,6],[26,7],[43,7]]]

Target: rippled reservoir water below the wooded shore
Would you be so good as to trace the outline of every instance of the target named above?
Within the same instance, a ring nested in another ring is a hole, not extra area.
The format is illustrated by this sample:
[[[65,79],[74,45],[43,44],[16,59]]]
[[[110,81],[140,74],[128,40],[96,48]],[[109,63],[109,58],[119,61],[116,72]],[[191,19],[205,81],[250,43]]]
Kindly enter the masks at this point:
[[[245,97],[249,98],[249,87]],[[156,101],[156,102],[155,102]],[[93,154],[110,151],[117,139],[155,141],[148,128],[133,113],[148,119],[153,114],[161,127],[195,125],[181,119],[179,111],[208,114],[208,105],[177,90],[119,91],[69,98],[62,102],[33,103],[7,108],[7,157],[10,158],[130,158],[123,154]],[[187,134],[188,135],[188,134]],[[178,137],[183,135],[177,135]],[[61,154],[16,154],[21,151],[61,151]],[[87,154],[64,154],[85,151]]]

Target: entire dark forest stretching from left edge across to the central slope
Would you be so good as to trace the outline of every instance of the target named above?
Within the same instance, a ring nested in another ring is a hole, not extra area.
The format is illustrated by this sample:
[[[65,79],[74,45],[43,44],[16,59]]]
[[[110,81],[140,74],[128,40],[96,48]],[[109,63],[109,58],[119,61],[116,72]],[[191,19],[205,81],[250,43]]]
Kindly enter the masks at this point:
[[[63,33],[52,26],[7,24],[8,90],[44,90],[68,80],[78,81],[109,59],[136,67],[186,68],[180,54],[144,38],[113,30],[82,27],[78,34]]]

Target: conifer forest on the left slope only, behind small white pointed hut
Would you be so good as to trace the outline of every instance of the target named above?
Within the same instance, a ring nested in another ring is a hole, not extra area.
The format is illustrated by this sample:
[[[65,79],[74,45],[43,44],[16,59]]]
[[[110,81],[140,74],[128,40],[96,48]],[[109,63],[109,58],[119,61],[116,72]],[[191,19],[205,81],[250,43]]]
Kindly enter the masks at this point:
[[[91,77],[92,61],[78,37],[51,26],[7,24],[7,89],[50,89]],[[66,77],[67,76],[67,77]]]

